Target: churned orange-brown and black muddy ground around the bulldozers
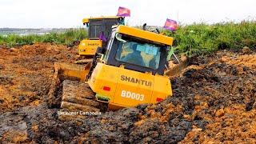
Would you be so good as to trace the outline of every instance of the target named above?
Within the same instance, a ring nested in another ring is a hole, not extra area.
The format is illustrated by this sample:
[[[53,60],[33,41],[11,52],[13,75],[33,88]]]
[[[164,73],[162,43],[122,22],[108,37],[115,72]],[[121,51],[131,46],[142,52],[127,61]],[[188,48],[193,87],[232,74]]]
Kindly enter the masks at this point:
[[[74,59],[75,48],[49,43],[0,48],[0,143],[256,142],[255,51],[193,58],[156,105],[61,122],[45,100],[54,62]]]

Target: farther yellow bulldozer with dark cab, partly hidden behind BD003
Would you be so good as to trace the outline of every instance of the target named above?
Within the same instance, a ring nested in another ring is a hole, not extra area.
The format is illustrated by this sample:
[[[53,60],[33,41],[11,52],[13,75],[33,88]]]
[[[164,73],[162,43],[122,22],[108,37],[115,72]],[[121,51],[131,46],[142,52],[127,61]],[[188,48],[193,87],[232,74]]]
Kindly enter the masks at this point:
[[[79,56],[93,57],[98,46],[106,46],[106,41],[112,30],[111,27],[124,24],[124,17],[84,18],[82,23],[88,28],[88,38],[80,42],[78,54]],[[100,36],[103,39],[99,38]]]

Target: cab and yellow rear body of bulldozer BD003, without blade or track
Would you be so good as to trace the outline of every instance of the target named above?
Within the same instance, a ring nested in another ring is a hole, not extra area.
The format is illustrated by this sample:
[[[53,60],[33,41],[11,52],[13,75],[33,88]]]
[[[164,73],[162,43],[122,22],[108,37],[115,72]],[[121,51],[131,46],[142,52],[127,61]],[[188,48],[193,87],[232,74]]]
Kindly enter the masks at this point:
[[[160,102],[172,95],[164,75],[173,38],[130,26],[114,26],[106,51],[96,53],[86,83],[110,110]],[[100,49],[98,49],[100,51]]]

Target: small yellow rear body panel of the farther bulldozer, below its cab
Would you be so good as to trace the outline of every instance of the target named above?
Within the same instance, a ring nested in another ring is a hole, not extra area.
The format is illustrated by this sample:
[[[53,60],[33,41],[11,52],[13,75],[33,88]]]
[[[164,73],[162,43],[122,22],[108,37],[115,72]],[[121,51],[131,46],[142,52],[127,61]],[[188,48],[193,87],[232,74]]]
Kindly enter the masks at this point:
[[[79,55],[94,55],[98,47],[102,47],[102,40],[83,39],[78,46]]]

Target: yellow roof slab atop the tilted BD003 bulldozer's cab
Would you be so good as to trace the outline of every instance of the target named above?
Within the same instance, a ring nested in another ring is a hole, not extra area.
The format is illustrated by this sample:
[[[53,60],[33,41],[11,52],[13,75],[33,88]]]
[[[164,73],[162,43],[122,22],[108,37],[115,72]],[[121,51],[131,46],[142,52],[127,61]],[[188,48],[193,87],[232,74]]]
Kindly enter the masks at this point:
[[[156,34],[154,32],[150,32],[150,31],[146,31],[146,30],[137,29],[137,28],[130,27],[130,26],[119,25],[117,27],[117,32],[121,33],[121,34],[131,35],[131,36],[134,36],[137,38],[143,38],[143,39],[150,40],[153,42],[162,43],[162,44],[168,45],[168,46],[172,46],[173,41],[174,41],[174,38],[167,37],[162,34]]]

